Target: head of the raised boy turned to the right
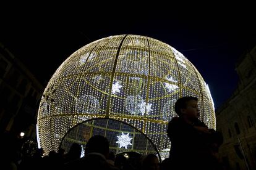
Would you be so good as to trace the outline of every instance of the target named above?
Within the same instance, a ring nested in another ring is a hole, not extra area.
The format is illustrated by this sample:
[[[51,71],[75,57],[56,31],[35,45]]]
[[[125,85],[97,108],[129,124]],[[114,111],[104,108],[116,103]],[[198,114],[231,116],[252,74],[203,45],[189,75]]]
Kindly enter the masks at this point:
[[[187,118],[198,118],[199,110],[198,110],[198,99],[197,97],[186,96],[181,97],[175,103],[174,110],[177,115]]]

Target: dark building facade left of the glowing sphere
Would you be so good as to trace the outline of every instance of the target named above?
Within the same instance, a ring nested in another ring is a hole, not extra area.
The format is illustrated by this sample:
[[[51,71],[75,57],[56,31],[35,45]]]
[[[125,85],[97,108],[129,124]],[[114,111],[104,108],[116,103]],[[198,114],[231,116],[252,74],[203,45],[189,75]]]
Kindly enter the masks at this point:
[[[0,131],[34,138],[43,85],[0,43]]]

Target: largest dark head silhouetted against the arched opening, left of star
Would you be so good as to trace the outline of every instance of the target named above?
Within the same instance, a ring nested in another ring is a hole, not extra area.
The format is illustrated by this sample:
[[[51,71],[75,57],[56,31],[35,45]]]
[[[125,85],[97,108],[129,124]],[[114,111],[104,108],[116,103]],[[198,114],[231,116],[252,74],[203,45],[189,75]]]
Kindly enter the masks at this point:
[[[109,154],[108,139],[99,135],[91,137],[86,144],[85,155],[92,152],[101,153],[106,158],[108,158],[108,154]]]

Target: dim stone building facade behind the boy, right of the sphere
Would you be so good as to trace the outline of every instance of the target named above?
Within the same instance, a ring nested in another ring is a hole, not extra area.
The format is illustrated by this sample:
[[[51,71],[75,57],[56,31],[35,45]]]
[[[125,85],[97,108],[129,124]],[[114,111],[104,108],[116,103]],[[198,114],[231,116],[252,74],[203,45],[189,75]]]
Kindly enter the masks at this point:
[[[216,110],[216,128],[224,137],[219,153],[227,169],[256,169],[256,46],[242,55],[239,84]]]

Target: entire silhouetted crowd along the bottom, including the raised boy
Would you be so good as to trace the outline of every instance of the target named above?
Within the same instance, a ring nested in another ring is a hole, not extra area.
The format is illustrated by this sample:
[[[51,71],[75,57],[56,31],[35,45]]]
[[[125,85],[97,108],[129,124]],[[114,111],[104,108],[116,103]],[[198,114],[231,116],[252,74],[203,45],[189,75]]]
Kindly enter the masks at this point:
[[[69,152],[59,148],[44,155],[43,148],[33,155],[22,152],[22,142],[9,134],[1,140],[1,169],[224,169],[218,159],[218,148],[223,137],[214,129],[200,121],[195,97],[182,97],[175,103],[178,117],[169,121],[167,134],[171,140],[169,158],[160,163],[154,154],[129,158],[122,154],[109,153],[106,137],[93,136],[85,147],[84,156],[80,158],[82,147],[72,144]]]

